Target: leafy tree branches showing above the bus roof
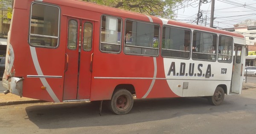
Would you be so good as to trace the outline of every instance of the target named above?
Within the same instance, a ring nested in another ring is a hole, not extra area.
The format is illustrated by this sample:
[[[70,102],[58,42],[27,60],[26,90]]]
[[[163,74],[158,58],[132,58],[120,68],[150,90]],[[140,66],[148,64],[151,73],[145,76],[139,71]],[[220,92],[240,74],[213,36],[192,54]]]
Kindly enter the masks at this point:
[[[173,18],[173,7],[183,0],[82,0],[90,3],[140,12],[164,18]]]

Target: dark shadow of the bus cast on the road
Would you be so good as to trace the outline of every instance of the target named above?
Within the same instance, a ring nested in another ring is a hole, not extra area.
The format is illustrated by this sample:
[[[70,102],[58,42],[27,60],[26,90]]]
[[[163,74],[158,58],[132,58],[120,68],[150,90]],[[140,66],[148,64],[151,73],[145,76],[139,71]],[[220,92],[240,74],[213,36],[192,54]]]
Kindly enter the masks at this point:
[[[148,121],[166,120],[187,114],[209,114],[244,110],[242,102],[256,104],[256,100],[229,97],[219,106],[209,105],[201,97],[134,100],[134,107],[125,115],[113,114],[104,105],[102,116],[99,105],[93,103],[55,103],[26,107],[29,120],[41,129],[76,128],[107,125],[127,125]],[[239,99],[239,101],[238,101]],[[255,105],[256,107],[256,105]]]

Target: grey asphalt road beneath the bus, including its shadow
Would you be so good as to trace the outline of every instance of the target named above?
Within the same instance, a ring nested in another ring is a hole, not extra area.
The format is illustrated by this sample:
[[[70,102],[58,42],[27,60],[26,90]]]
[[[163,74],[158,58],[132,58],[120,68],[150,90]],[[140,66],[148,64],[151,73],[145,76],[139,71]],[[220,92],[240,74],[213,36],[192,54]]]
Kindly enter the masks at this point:
[[[0,134],[255,134],[256,89],[225,96],[222,105],[201,97],[135,100],[115,115],[93,103],[0,106]]]

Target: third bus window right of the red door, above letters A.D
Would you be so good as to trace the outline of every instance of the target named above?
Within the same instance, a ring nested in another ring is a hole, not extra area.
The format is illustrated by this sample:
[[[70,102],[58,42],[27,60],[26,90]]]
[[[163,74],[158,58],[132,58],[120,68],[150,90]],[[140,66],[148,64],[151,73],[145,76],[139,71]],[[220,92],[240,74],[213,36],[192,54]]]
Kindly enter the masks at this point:
[[[162,56],[189,58],[190,36],[189,30],[163,27]]]

